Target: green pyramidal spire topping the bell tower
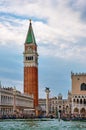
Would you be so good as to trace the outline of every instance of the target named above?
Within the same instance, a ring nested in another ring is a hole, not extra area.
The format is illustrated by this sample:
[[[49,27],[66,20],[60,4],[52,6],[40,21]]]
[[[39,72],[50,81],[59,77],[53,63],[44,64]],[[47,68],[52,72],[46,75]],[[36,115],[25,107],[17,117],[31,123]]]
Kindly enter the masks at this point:
[[[36,44],[35,36],[34,36],[34,33],[33,33],[33,28],[32,28],[31,20],[30,20],[30,25],[29,25],[29,29],[28,29],[28,33],[27,33],[27,37],[26,37],[25,43],[26,43],[26,44],[31,44],[31,43]]]

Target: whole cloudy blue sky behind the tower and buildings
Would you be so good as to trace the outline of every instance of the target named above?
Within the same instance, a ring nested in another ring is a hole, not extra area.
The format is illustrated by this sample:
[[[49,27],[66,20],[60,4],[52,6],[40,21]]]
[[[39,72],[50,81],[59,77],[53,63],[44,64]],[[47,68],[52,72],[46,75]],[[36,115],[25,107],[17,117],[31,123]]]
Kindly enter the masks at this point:
[[[86,72],[86,0],[0,0],[0,81],[23,92],[23,52],[32,27],[39,54],[39,98],[67,98],[71,72]]]

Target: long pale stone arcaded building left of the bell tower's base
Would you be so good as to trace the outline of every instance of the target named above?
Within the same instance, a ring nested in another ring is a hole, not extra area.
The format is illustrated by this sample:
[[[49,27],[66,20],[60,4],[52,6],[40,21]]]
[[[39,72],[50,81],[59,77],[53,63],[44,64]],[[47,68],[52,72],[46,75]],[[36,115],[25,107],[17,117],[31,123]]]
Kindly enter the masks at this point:
[[[0,88],[0,115],[21,113],[33,108],[33,96],[22,94],[13,88]]]

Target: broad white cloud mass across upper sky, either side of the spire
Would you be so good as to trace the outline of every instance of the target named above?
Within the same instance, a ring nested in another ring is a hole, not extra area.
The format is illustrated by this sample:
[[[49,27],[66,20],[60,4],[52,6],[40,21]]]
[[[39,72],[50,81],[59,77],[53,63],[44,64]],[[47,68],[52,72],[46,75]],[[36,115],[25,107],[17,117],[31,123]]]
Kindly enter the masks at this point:
[[[33,29],[40,55],[70,59],[75,57],[76,52],[76,58],[85,58],[86,54],[83,56],[82,50],[85,51],[86,47],[78,43],[81,38],[86,38],[86,24],[80,19],[80,11],[75,12],[68,6],[68,0],[5,0],[5,4],[2,0],[0,3],[0,11],[11,14],[1,16],[0,43],[23,45],[28,22],[21,19],[21,16],[35,17]],[[84,0],[75,2],[80,7],[84,5],[83,3]],[[12,14],[15,14],[15,17],[12,17]]]

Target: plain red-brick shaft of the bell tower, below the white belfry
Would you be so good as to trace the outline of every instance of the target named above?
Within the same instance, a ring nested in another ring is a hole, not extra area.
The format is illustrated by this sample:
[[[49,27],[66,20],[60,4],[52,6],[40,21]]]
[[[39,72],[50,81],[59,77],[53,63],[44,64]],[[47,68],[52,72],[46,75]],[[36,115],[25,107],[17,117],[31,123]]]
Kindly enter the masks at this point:
[[[34,107],[38,106],[38,68],[24,67],[24,93],[33,94]]]

